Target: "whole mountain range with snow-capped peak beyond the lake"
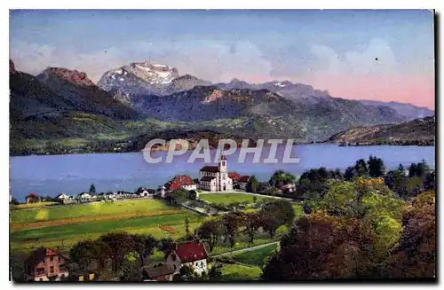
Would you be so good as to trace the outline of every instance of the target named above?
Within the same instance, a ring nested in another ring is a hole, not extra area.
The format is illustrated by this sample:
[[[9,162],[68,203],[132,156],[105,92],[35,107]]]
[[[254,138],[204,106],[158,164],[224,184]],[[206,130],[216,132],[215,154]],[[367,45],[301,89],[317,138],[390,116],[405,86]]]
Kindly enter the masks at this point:
[[[10,87],[12,154],[100,146],[118,151],[165,129],[313,142],[352,126],[434,114],[410,104],[333,98],[289,81],[211,83],[147,62],[107,71],[96,85],[75,70],[48,67],[33,76],[16,71],[10,61]]]

